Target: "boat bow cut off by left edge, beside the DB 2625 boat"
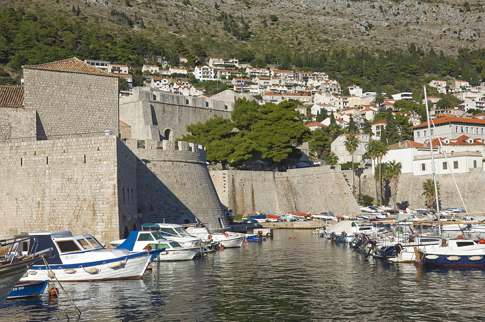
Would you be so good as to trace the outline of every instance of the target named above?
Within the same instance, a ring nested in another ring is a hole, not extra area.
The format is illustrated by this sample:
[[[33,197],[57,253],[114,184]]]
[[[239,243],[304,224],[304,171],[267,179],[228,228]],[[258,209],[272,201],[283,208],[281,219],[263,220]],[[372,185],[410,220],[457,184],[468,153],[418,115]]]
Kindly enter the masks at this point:
[[[23,242],[30,245],[25,254],[17,251],[17,249],[20,249],[18,246],[22,245]],[[0,246],[11,247],[10,251],[0,259],[0,306],[2,306],[20,278],[33,264],[39,261],[42,254],[35,252],[37,242],[30,237],[6,239],[1,242]]]

